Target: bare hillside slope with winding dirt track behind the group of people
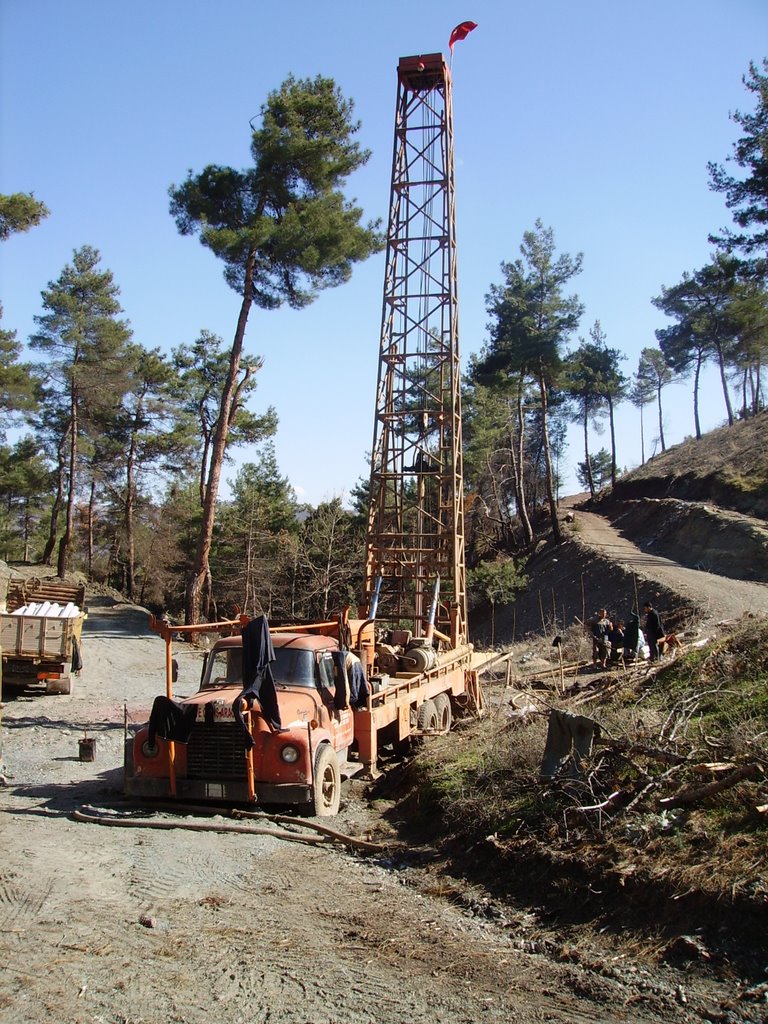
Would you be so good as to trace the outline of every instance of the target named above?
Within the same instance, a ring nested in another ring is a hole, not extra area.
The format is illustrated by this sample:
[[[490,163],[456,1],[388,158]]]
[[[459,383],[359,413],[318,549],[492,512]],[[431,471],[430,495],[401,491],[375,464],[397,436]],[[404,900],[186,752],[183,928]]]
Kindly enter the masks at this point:
[[[527,563],[514,604],[475,613],[476,644],[554,635],[650,599],[669,629],[768,613],[768,413],[670,449],[594,502],[561,503],[564,541]],[[584,499],[584,500],[583,500]]]

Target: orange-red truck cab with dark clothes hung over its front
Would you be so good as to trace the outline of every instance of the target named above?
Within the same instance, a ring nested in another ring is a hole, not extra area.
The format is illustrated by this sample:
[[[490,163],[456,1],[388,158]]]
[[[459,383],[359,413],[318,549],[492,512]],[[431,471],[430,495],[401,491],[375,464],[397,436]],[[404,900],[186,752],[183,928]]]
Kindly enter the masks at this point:
[[[240,636],[216,641],[206,658],[201,686],[178,700],[194,719],[188,742],[140,729],[126,741],[125,792],[133,797],[174,796],[229,803],[298,804],[316,815],[336,814],[341,769],[353,739],[349,708],[336,708],[333,637],[283,632],[272,636],[281,731],[270,728],[258,702],[233,705],[243,690]],[[194,709],[194,711],[193,711]],[[249,750],[247,734],[253,739]],[[250,783],[250,784],[249,784]]]

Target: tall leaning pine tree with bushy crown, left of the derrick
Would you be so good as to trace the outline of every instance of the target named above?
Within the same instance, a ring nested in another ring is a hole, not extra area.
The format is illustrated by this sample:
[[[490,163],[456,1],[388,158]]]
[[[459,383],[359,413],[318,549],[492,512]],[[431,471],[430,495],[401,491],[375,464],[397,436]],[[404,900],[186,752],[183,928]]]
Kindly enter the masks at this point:
[[[381,246],[376,225],[342,187],[368,160],[353,136],[352,103],[331,79],[288,78],[261,111],[251,136],[253,166],[244,171],[209,165],[172,186],[171,213],[182,234],[198,233],[224,261],[224,278],[240,295],[229,369],[221,391],[196,563],[187,594],[187,621],[198,621],[210,579],[216,499],[232,403],[252,305],[299,309],[318,290],[347,281],[354,262]]]

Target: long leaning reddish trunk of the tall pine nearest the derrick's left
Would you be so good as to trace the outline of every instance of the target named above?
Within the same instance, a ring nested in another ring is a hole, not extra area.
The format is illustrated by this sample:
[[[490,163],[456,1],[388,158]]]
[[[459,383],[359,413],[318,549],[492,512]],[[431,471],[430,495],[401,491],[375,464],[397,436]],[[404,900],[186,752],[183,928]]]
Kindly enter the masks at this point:
[[[198,551],[195,558],[195,567],[186,591],[186,616],[187,625],[200,622],[201,604],[203,591],[208,585],[210,595],[211,570],[209,557],[211,553],[211,543],[213,539],[213,524],[216,518],[216,500],[218,498],[219,482],[221,479],[221,467],[224,462],[226,451],[226,439],[229,432],[229,421],[231,416],[231,406],[238,383],[240,372],[240,360],[243,353],[243,340],[248,324],[248,313],[251,309],[253,273],[256,261],[256,252],[252,249],[248,254],[246,263],[245,287],[243,289],[243,303],[240,307],[238,327],[232,341],[232,350],[229,356],[229,372],[224,383],[221,394],[219,414],[216,419],[216,429],[213,434],[213,444],[211,446],[211,462],[208,471],[208,483],[203,504],[203,521],[200,526],[200,538],[198,540]]]

